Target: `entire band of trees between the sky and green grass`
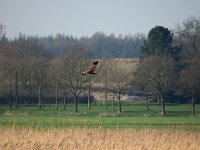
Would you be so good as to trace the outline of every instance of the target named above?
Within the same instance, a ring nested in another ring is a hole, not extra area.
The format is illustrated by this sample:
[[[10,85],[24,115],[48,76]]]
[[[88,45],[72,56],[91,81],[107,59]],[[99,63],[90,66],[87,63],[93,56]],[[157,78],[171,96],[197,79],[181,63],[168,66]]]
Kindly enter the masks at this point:
[[[20,34],[6,38],[0,27],[0,94],[6,97],[9,109],[18,107],[23,97],[37,98],[42,107],[44,97],[55,97],[56,109],[60,97],[65,106],[73,97],[78,112],[80,95],[87,95],[90,108],[90,89],[97,88],[118,99],[127,91],[151,93],[161,103],[165,114],[166,102],[195,103],[200,91],[200,19],[190,17],[173,31],[163,26],[153,27],[143,34],[116,37],[97,32],[92,37],[37,37]],[[117,65],[109,58],[139,58],[134,72]],[[82,76],[94,59],[101,59],[96,76]],[[129,93],[131,93],[129,92]],[[88,93],[88,94],[87,94]],[[147,98],[148,100],[148,98]]]

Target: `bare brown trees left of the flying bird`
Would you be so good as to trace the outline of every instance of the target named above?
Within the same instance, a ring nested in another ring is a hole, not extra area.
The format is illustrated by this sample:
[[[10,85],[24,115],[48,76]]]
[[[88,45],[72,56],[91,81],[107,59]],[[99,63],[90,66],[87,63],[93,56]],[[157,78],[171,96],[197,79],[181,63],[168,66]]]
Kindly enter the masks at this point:
[[[1,40],[0,53],[0,92],[8,98],[9,109],[14,99],[18,107],[19,97],[38,97],[41,108],[44,96],[56,96],[58,109],[60,91],[64,97],[66,92],[74,96],[78,111],[77,97],[88,86],[87,78],[81,76],[89,60],[83,45],[77,43],[63,57],[53,59],[37,39]]]

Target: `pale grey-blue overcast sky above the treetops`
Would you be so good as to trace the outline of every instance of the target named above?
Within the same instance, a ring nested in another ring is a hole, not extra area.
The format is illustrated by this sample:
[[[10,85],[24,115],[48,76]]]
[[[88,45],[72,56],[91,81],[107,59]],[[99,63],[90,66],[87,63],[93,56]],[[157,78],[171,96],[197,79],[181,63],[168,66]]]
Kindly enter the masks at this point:
[[[200,0],[0,0],[0,22],[8,37],[148,34],[155,25],[173,29],[200,16]]]

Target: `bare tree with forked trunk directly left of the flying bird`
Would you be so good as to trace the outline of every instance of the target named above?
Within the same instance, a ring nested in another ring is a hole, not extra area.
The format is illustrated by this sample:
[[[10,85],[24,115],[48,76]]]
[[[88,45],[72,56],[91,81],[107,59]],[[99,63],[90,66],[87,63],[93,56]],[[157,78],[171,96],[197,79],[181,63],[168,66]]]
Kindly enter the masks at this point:
[[[74,112],[78,113],[78,97],[90,85],[83,71],[90,64],[88,53],[81,44],[75,45],[62,59],[61,81],[63,87],[74,96]]]

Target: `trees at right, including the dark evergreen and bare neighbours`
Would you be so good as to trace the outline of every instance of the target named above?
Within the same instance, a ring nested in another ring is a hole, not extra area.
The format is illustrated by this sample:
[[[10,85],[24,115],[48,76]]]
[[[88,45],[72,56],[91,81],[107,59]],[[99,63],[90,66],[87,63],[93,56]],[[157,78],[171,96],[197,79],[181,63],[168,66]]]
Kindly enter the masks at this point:
[[[135,85],[157,94],[162,114],[165,99],[180,96],[191,99],[195,115],[195,98],[200,96],[200,20],[191,17],[173,33],[162,26],[150,30],[142,47],[143,60],[135,73]]]

